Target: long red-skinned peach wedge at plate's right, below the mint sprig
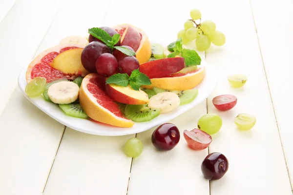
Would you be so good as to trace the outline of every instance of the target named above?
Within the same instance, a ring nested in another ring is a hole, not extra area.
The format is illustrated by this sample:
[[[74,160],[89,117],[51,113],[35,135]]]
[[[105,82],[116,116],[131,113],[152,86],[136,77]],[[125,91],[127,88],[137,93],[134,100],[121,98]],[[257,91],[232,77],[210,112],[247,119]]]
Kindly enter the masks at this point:
[[[141,63],[139,70],[146,74],[148,78],[164,78],[171,74],[177,73],[185,67],[185,59],[178,58],[164,58],[146,63]]]

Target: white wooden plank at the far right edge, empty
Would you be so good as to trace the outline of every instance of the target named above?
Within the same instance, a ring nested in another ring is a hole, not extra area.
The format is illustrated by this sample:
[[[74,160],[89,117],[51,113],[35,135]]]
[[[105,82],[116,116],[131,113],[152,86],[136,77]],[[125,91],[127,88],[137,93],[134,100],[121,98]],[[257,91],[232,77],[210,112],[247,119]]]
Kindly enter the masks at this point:
[[[293,154],[291,152],[293,133],[290,131],[292,127],[290,111],[293,109],[293,105],[291,90],[287,84],[290,83],[293,75],[293,69],[290,66],[293,62],[291,58],[293,2],[291,0],[252,0],[251,7],[283,150],[289,173],[293,176]],[[268,16],[270,16],[270,20],[266,18]],[[277,24],[278,27],[270,30],[273,24]],[[284,84],[286,87],[283,87]]]

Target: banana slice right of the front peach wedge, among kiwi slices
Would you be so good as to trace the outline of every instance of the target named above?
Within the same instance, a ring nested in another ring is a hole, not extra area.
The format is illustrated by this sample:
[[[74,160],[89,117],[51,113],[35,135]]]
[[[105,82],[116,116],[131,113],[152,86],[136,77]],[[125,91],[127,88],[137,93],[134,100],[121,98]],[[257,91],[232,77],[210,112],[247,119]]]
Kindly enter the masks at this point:
[[[173,92],[162,92],[149,98],[148,107],[151,109],[160,109],[160,113],[167,113],[180,104],[180,99],[177,94]]]

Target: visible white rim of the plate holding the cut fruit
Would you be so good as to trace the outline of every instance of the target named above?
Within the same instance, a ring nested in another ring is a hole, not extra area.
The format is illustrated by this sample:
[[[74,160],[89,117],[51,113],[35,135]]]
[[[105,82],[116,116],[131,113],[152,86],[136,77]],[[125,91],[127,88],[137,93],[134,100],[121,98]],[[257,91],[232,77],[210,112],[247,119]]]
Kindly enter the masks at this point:
[[[135,123],[131,128],[115,127],[104,125],[102,123],[92,122],[90,120],[66,116],[58,105],[45,101],[42,96],[39,98],[29,98],[26,96],[24,89],[26,86],[25,73],[27,66],[23,67],[20,72],[18,83],[24,96],[30,100],[34,105],[41,109],[44,113],[61,122],[63,125],[87,134],[99,136],[124,136],[135,134],[149,130],[153,127],[161,125],[169,120],[184,114],[186,111],[193,108],[195,105],[208,98],[209,94],[215,89],[217,85],[217,76],[215,71],[202,60],[202,65],[206,66],[206,76],[203,81],[195,88],[198,89],[198,96],[190,103],[179,106],[172,112],[161,114],[151,121]]]

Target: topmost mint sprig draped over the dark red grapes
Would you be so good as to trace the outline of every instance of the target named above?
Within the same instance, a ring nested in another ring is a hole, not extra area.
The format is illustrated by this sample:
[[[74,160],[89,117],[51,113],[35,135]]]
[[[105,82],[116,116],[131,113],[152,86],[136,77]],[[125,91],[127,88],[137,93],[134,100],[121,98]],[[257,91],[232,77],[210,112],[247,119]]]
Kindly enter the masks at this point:
[[[126,47],[114,46],[120,40],[120,34],[115,34],[113,37],[111,37],[104,29],[98,27],[89,28],[88,33],[93,37],[103,41],[105,45],[107,45],[111,50],[115,48],[127,56],[135,56],[135,52]]]

